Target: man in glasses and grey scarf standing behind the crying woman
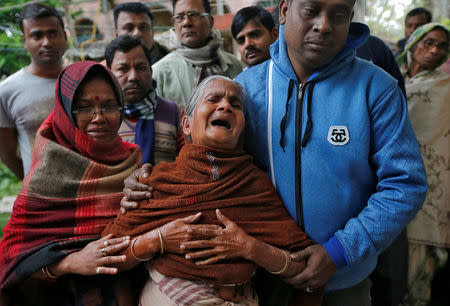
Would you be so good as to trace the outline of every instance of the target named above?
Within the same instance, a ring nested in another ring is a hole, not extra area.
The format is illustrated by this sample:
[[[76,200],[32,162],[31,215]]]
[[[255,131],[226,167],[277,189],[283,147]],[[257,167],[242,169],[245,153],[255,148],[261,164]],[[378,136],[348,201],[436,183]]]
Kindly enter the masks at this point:
[[[213,29],[208,0],[173,0],[172,51],[153,65],[159,96],[185,107],[192,88],[210,75],[236,77],[241,63],[220,50],[223,39]]]

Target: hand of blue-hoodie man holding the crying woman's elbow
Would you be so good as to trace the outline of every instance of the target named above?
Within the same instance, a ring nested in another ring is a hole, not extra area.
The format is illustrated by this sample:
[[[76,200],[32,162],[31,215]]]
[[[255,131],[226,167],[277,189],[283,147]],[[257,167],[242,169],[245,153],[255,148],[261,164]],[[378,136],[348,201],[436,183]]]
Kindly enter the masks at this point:
[[[328,252],[320,244],[307,247],[304,250],[293,253],[292,260],[306,260],[305,269],[299,274],[284,278],[284,281],[296,288],[313,290],[325,286],[328,280],[336,273],[337,269]]]

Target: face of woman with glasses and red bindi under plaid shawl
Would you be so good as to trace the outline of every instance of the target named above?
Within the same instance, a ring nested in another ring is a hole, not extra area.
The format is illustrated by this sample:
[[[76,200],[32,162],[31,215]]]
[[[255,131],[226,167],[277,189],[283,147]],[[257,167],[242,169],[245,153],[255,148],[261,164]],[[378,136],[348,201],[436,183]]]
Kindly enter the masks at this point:
[[[120,127],[120,107],[112,85],[100,78],[82,84],[73,103],[78,128],[98,142],[109,142]]]

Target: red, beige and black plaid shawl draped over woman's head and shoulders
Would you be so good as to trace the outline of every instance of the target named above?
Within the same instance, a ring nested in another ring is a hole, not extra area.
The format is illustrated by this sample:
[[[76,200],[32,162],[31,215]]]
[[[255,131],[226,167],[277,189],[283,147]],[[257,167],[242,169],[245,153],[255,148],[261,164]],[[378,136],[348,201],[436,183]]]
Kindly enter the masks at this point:
[[[124,179],[140,164],[137,146],[119,136],[96,142],[70,117],[76,89],[98,66],[111,76],[121,97],[110,71],[95,62],[73,64],[60,74],[54,110],[37,132],[31,170],[4,228],[0,296],[3,289],[98,237],[117,215]]]

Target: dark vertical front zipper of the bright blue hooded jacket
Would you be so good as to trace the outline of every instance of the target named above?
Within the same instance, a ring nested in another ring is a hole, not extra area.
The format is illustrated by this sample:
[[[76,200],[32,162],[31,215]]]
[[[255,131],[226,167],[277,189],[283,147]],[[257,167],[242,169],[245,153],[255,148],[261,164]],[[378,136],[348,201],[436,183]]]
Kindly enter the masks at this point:
[[[295,199],[297,223],[305,231],[302,201],[302,125],[303,125],[303,96],[307,83],[298,83],[297,103],[295,110]]]

